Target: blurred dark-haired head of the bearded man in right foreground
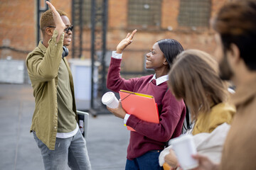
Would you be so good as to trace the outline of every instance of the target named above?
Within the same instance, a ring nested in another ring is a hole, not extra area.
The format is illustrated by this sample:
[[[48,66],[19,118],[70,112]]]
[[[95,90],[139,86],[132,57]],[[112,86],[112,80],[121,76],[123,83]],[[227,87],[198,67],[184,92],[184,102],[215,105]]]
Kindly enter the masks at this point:
[[[220,77],[232,79],[233,64],[227,55],[238,55],[247,69],[256,71],[256,0],[230,2],[220,8],[213,23],[216,30]]]

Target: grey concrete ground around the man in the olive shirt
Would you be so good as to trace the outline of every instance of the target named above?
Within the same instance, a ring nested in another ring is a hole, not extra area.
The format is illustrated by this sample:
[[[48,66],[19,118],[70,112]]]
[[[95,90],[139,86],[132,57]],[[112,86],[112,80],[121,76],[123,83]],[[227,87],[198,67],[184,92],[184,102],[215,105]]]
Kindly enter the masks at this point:
[[[0,84],[0,169],[43,170],[43,161],[29,133],[34,109],[29,84]],[[87,149],[92,169],[124,169],[129,131],[112,114],[90,115]]]

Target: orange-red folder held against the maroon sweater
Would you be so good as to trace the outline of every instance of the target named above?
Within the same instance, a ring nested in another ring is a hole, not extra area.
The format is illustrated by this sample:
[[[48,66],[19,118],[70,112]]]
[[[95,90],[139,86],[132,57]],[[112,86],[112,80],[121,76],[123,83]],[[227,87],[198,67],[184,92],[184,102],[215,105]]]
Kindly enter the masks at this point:
[[[150,123],[159,123],[159,112],[154,96],[120,90],[122,108],[130,115]],[[127,126],[127,130],[135,131]]]

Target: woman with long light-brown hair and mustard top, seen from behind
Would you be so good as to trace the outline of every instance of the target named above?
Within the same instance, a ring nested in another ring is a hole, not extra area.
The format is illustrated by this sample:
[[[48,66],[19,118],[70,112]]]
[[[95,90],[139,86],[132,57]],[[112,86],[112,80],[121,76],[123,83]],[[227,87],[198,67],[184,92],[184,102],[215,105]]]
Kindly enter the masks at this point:
[[[200,50],[181,52],[171,67],[168,84],[174,96],[177,99],[183,98],[190,109],[191,119],[195,122],[192,135],[210,135],[218,126],[230,124],[233,120],[235,108],[228,103],[228,86],[218,76],[218,64],[208,53]],[[218,132],[214,135],[210,139],[218,139],[223,144],[225,135],[220,137]],[[212,155],[214,161],[219,162],[222,145],[216,147],[218,151]],[[178,166],[172,149],[164,160],[173,168]]]

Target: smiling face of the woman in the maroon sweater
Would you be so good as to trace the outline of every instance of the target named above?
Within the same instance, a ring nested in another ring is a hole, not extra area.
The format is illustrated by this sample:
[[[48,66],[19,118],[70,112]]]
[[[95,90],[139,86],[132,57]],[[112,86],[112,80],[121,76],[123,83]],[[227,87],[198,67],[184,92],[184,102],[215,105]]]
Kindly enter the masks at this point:
[[[154,43],[150,52],[146,54],[146,69],[156,70],[161,67],[166,67],[165,62],[166,58],[164,57],[164,53],[161,52],[158,43]]]

